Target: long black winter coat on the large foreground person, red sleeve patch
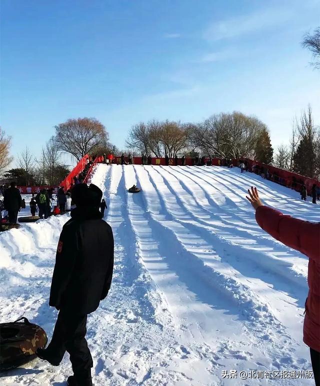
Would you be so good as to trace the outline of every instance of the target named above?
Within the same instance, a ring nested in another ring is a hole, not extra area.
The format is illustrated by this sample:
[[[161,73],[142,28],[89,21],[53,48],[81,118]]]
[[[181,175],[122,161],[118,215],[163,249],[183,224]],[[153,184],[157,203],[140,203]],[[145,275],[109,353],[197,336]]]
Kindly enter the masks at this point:
[[[78,207],[62,228],[55,257],[49,305],[93,312],[110,288],[113,234],[97,208]]]

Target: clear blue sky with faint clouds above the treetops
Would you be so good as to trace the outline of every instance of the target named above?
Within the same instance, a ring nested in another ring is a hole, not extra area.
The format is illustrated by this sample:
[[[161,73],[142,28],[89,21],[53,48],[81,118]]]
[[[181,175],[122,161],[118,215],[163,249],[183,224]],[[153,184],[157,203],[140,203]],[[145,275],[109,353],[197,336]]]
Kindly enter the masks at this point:
[[[300,45],[319,0],[1,0],[1,126],[38,155],[70,117],[94,116],[118,147],[140,120],[256,115],[274,146],[311,104],[320,71]]]

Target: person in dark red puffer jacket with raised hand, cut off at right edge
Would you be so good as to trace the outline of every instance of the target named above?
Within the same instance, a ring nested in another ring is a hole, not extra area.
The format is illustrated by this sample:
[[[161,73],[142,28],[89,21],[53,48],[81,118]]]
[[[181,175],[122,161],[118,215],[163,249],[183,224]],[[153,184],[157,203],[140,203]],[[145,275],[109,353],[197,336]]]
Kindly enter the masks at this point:
[[[262,204],[256,187],[248,189],[246,198],[255,209],[258,225],[283,244],[309,258],[308,286],[305,300],[303,341],[310,348],[316,386],[320,386],[320,222],[303,221],[282,214]]]

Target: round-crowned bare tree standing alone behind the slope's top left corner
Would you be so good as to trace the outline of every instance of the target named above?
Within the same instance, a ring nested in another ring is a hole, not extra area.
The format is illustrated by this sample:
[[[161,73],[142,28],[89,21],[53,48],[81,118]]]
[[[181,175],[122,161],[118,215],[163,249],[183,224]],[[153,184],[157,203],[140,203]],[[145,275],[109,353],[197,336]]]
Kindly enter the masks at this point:
[[[56,125],[55,132],[59,150],[72,154],[77,160],[87,153],[95,153],[108,141],[105,127],[95,118],[68,119]]]

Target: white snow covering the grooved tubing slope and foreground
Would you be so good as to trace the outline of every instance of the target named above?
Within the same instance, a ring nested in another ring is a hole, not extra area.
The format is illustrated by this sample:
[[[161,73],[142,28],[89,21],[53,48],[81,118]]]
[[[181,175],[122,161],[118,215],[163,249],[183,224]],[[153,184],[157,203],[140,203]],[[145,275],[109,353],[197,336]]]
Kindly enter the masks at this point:
[[[302,342],[305,255],[266,234],[245,199],[316,221],[319,205],[238,168],[99,164],[91,182],[114,233],[111,289],[88,316],[95,385],[312,385],[312,379],[222,378],[222,370],[310,370]],[[127,192],[132,184],[141,192]],[[27,210],[27,208],[26,208]],[[56,244],[69,215],[0,234],[1,322],[24,315],[51,337]],[[60,366],[35,359],[2,385],[64,385]]]

